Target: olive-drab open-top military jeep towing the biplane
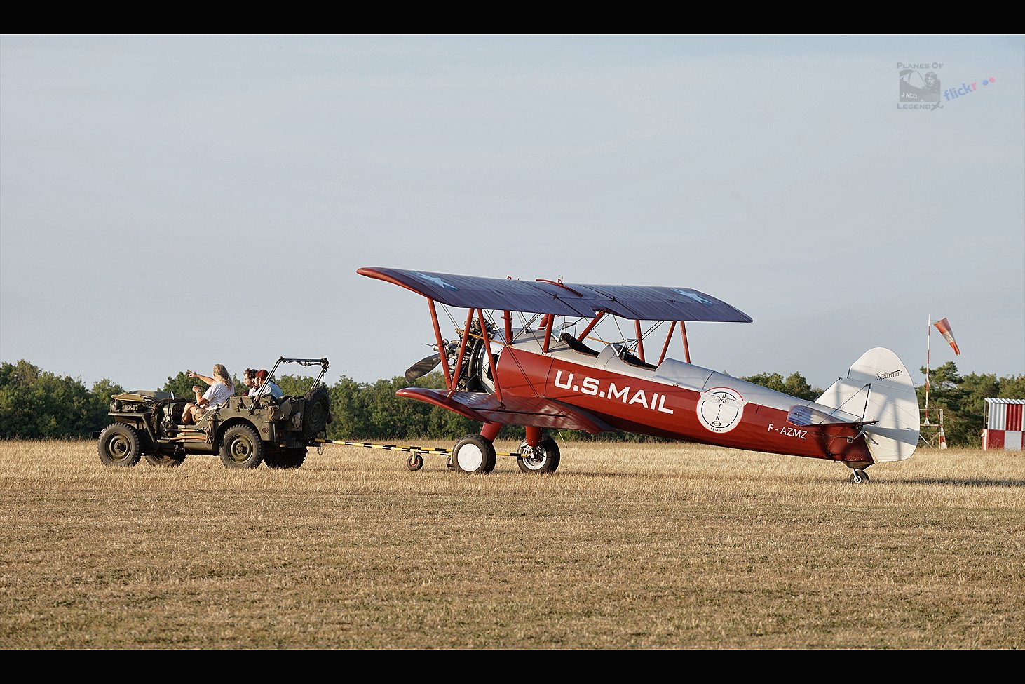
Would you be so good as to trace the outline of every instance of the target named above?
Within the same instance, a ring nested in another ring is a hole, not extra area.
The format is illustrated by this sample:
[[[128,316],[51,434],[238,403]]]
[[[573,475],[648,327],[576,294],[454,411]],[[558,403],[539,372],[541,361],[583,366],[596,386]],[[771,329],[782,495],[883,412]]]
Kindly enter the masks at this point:
[[[321,371],[301,396],[273,397],[270,383],[283,363],[320,365]],[[331,400],[324,386],[327,359],[278,359],[256,396],[234,396],[181,425],[189,400],[171,392],[139,390],[111,397],[114,423],[93,433],[105,466],[130,468],[145,457],[151,466],[180,466],[190,453],[220,455],[227,468],[299,468],[306,447],[326,437]]]

